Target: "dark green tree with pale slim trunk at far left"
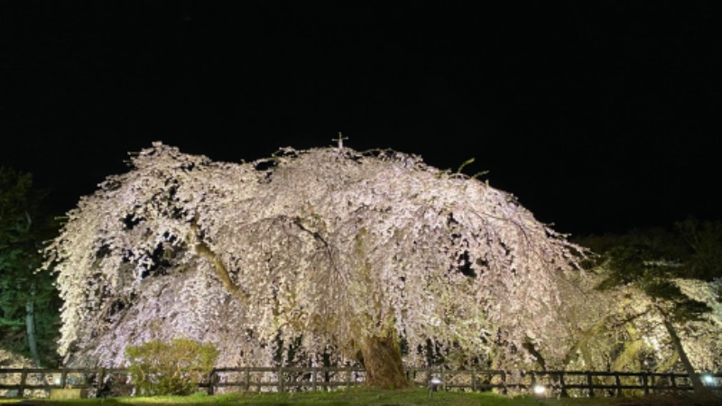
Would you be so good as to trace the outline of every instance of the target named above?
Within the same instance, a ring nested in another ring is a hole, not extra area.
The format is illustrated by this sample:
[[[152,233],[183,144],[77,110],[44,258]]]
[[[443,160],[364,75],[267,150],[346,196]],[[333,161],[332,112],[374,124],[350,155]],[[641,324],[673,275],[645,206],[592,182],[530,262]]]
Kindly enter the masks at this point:
[[[30,355],[36,365],[57,358],[60,300],[42,266],[42,244],[57,233],[43,214],[44,193],[32,175],[0,168],[0,345]]]

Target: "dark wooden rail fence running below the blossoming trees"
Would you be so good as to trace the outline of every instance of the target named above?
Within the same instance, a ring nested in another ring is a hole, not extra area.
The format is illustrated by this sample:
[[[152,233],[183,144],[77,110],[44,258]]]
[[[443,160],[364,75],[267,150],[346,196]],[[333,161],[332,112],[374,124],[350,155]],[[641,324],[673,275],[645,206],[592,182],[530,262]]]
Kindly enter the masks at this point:
[[[426,387],[440,379],[442,391],[532,392],[543,385],[546,396],[624,396],[692,389],[687,374],[599,371],[502,371],[409,368],[410,382]],[[199,387],[216,392],[332,391],[365,381],[361,367],[246,367],[214,369]],[[48,397],[51,389],[79,388],[93,395],[107,380],[112,395],[131,395],[133,383],[125,369],[0,369],[0,397]],[[706,384],[722,389],[722,374],[705,374]]]

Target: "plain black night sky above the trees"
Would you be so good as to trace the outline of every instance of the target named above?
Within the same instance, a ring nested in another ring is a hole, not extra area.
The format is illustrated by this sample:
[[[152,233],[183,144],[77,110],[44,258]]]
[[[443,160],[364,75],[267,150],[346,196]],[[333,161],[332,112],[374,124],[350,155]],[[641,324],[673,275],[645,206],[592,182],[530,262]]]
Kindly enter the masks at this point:
[[[153,141],[239,162],[343,132],[475,158],[562,233],[720,219],[722,2],[228,3],[3,2],[0,166],[65,212]]]

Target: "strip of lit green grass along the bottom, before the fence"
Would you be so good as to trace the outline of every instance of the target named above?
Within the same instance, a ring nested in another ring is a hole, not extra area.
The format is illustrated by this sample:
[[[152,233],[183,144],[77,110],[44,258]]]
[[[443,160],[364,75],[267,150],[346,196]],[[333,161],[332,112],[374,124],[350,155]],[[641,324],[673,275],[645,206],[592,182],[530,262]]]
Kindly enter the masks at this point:
[[[20,400],[0,400],[12,404]],[[26,402],[28,402],[26,400]],[[429,392],[422,389],[405,391],[379,391],[352,388],[338,392],[298,393],[227,393],[208,396],[198,393],[192,396],[159,396],[152,398],[82,399],[72,401],[32,400],[41,406],[716,406],[722,397],[708,398],[667,396],[650,398],[567,398],[535,399],[531,396],[508,397],[493,393]]]

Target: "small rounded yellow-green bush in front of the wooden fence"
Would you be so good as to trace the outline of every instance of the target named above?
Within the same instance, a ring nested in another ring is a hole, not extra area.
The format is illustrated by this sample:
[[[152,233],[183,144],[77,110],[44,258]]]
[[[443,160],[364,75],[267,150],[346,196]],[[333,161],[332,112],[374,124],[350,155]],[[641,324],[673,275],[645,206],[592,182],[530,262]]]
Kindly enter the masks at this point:
[[[125,348],[128,372],[138,392],[145,396],[189,395],[213,370],[218,350],[187,338],[171,343],[159,340]]]

